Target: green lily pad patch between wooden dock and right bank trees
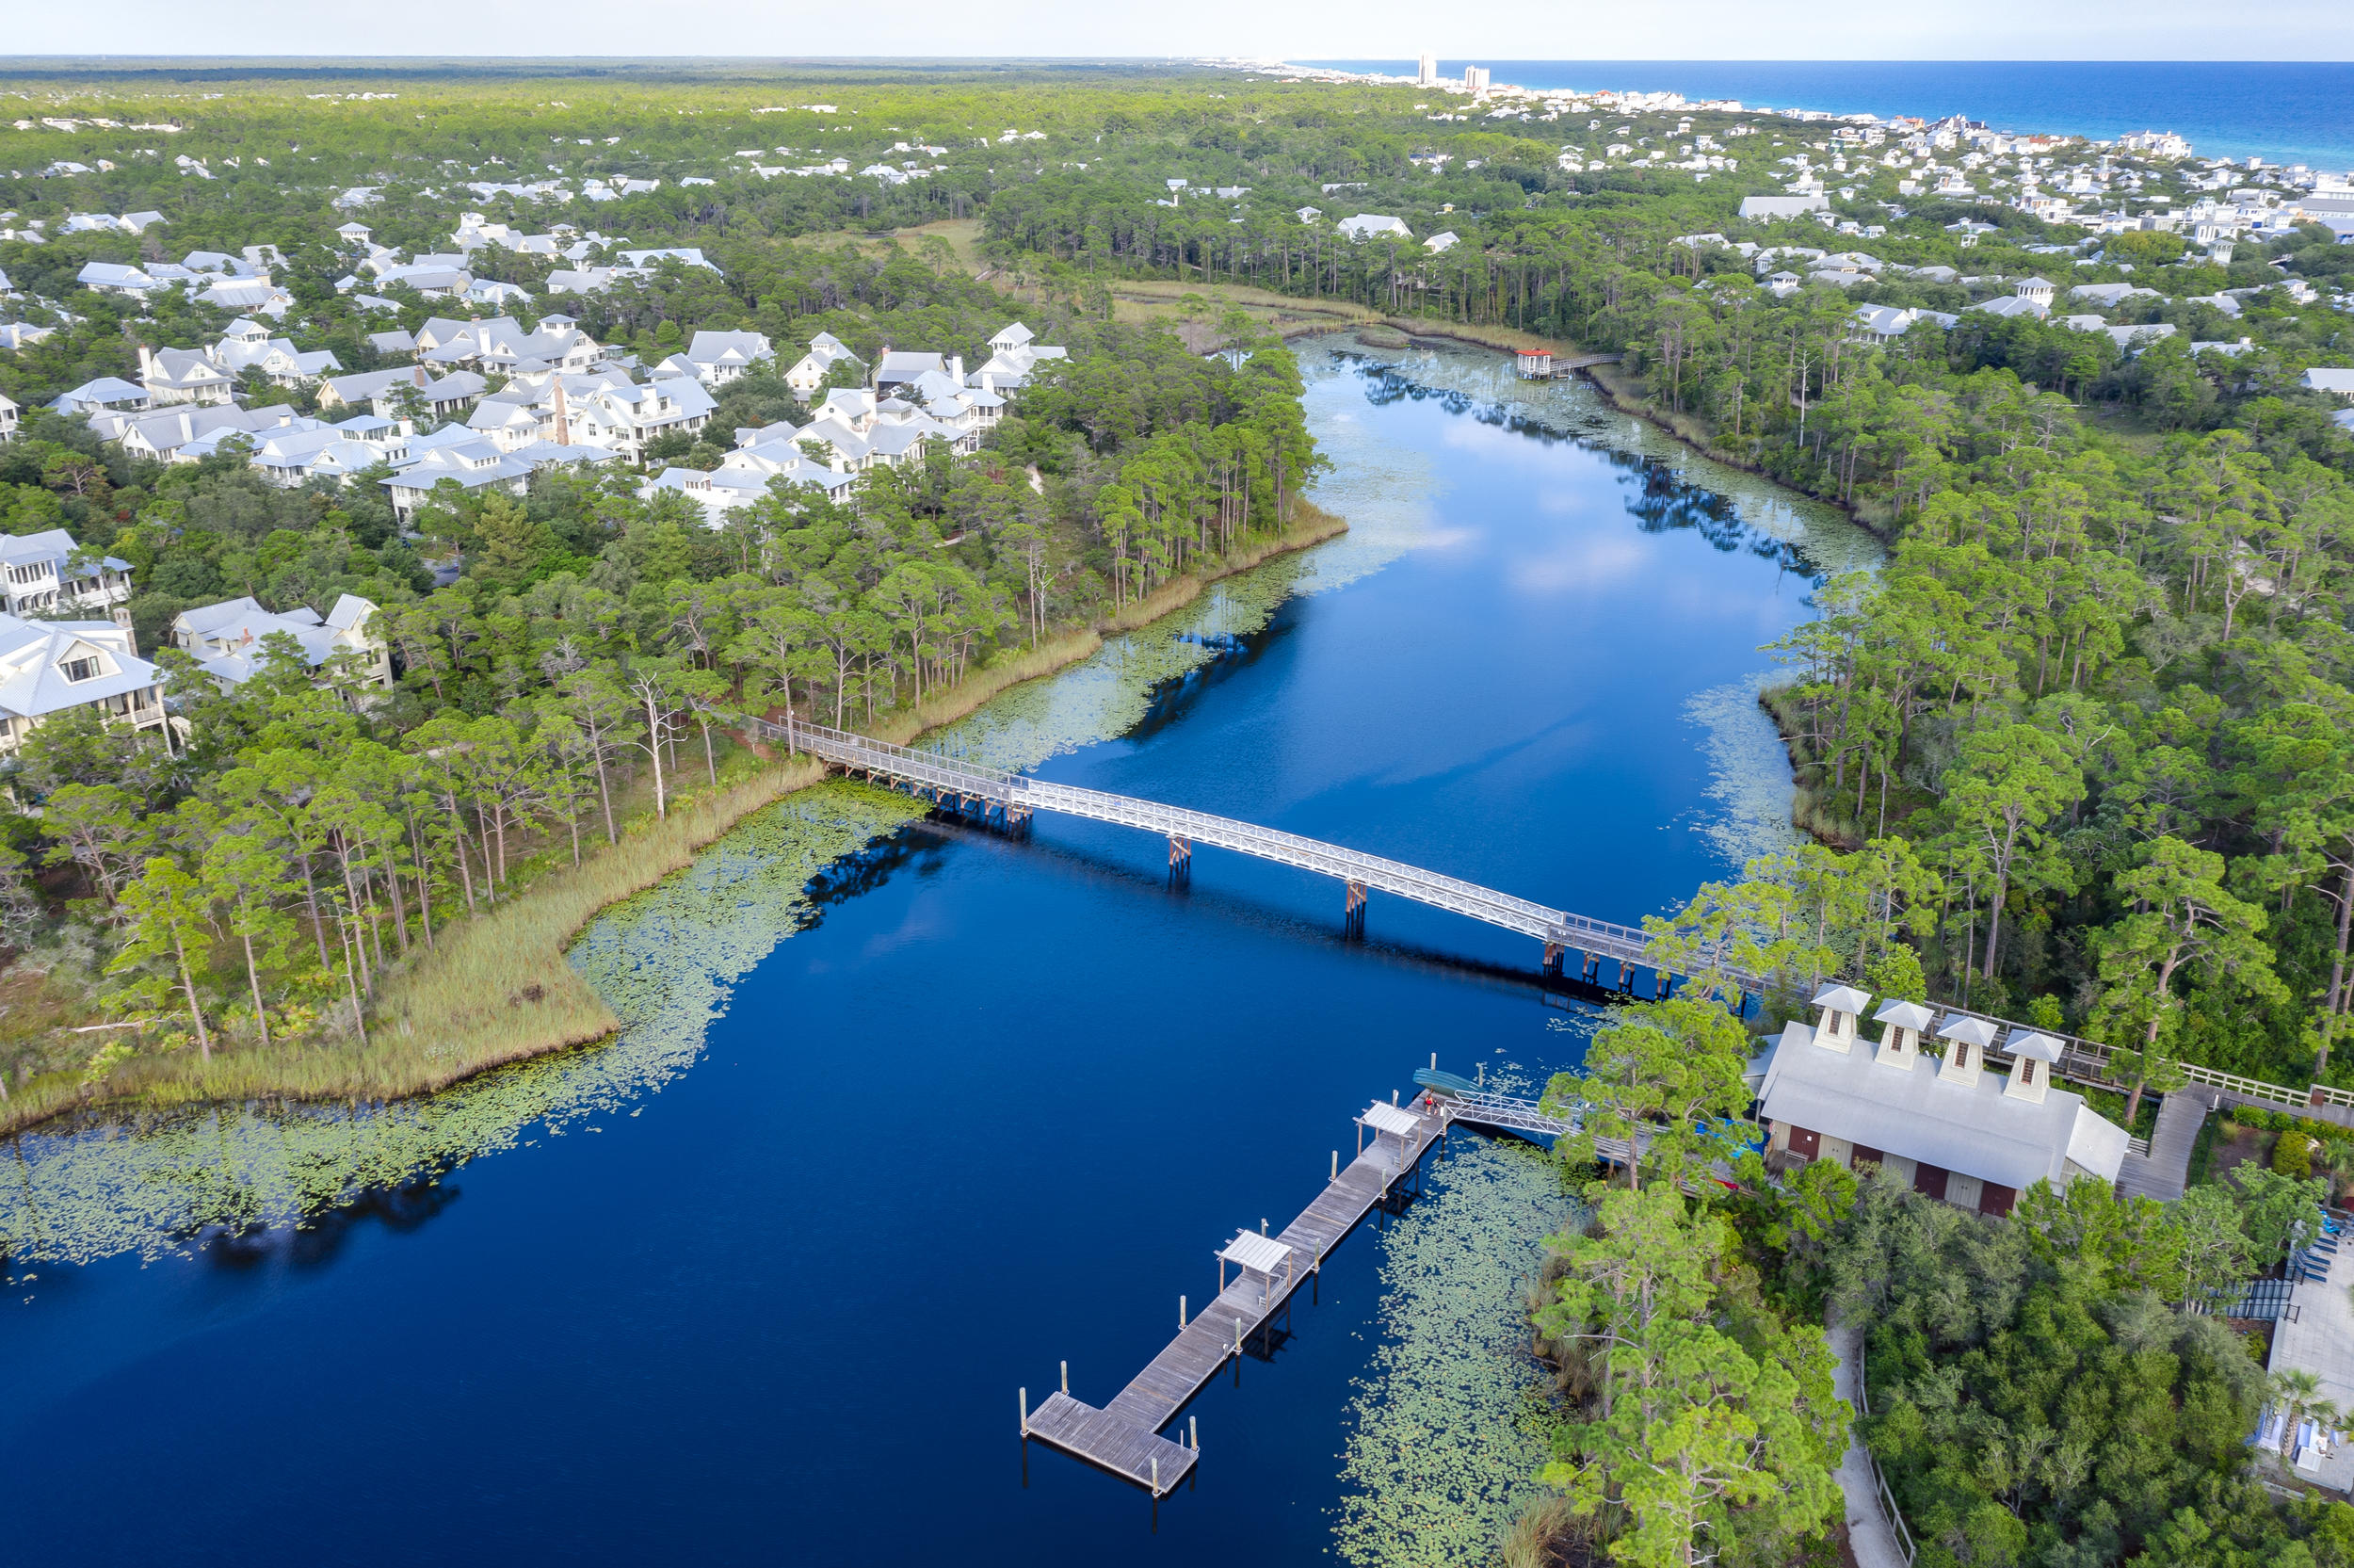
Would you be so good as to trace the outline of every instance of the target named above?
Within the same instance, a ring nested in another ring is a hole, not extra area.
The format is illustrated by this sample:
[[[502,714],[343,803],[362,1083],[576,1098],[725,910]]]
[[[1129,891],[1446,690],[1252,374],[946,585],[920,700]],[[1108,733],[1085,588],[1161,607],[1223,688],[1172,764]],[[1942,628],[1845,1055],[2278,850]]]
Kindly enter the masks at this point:
[[[1459,1137],[1429,1196],[1382,1236],[1382,1326],[1356,1396],[1332,1519],[1365,1568],[1488,1561],[1544,1490],[1558,1420],[1530,1351],[1528,1290],[1575,1198],[1518,1142]]]

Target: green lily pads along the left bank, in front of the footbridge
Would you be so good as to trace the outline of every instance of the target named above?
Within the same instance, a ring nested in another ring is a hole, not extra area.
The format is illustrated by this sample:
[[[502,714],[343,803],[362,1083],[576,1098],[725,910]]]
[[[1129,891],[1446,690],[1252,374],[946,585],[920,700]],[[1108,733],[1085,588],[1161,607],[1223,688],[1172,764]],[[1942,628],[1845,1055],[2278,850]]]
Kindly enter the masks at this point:
[[[612,1041],[391,1104],[242,1104],[24,1132],[0,1182],[0,1250],[56,1262],[188,1253],[212,1231],[304,1224],[626,1111],[694,1067],[734,982],[810,921],[810,878],[920,815],[887,791],[824,784],[598,916],[572,963],[621,1017]]]

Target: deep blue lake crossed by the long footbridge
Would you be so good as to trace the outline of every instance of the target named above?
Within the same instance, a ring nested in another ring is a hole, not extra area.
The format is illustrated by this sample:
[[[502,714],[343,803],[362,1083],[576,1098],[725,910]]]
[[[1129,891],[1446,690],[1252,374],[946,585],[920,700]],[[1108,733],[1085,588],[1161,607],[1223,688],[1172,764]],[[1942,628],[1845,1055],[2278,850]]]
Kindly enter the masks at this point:
[[[1620,921],[1780,843],[1758,645],[1871,544],[1490,356],[1302,360],[1339,464],[1321,499],[1354,532],[942,744]],[[725,909],[756,881],[690,878],[584,944],[591,975],[636,963],[685,1001],[454,1102],[560,1109],[242,1236],[122,1215],[217,1147],[285,1182],[384,1128],[21,1140],[12,1556],[1459,1561],[1405,1493],[1445,1486],[1450,1434],[1516,1420],[1516,1281],[1558,1212],[1535,1156],[1478,1140],[1335,1255],[1274,1358],[1196,1401],[1191,1490],[1153,1509],[1015,1436],[1017,1389],[1064,1361],[1080,1398],[1118,1391],[1179,1293],[1208,1300],[1212,1250],[1297,1212],[1351,1114],[1431,1052],[1537,1083],[1591,1029],[1521,937],[1377,897],[1346,942],[1332,883],[1198,850],[1170,890],[1165,859],[1092,824],[911,824],[833,866],[782,942],[763,906]],[[690,994],[694,965],[718,979]],[[640,1036],[683,1043],[643,1069]],[[1455,1285],[1488,1295],[1448,1318]],[[1497,1519],[1525,1443],[1485,1462],[1511,1469],[1485,1481]]]

